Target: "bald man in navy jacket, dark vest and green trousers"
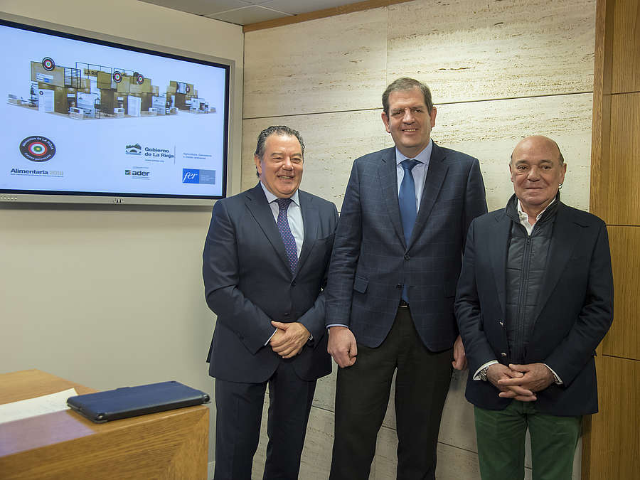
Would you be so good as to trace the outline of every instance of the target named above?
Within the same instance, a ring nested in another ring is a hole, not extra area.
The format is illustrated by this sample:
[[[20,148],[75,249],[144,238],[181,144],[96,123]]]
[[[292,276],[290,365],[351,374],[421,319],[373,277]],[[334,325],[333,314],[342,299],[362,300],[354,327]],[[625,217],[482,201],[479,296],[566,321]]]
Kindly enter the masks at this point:
[[[515,194],[469,228],[456,314],[483,479],[570,479],[582,415],[597,412],[595,348],[613,316],[604,222],[560,202],[558,144],[523,139]]]

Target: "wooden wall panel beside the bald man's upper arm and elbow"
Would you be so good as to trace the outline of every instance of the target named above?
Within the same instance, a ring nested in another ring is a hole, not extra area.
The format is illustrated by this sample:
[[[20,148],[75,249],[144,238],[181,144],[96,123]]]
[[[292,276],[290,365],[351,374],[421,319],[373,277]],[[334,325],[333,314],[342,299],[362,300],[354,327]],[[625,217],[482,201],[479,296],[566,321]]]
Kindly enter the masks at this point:
[[[609,226],[614,272],[614,322],[602,353],[640,360],[640,227]]]

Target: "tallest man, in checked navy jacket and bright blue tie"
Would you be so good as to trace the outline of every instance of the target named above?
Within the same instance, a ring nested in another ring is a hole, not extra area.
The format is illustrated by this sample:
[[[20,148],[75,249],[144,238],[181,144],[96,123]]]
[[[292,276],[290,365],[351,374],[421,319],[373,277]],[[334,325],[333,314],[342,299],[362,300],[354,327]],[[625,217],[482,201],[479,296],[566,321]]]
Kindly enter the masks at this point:
[[[353,163],[326,289],[334,480],[368,479],[395,370],[398,479],[433,479],[452,365],[466,365],[453,302],[466,229],[486,213],[479,162],[432,142],[417,80],[391,83],[383,109],[395,148]]]

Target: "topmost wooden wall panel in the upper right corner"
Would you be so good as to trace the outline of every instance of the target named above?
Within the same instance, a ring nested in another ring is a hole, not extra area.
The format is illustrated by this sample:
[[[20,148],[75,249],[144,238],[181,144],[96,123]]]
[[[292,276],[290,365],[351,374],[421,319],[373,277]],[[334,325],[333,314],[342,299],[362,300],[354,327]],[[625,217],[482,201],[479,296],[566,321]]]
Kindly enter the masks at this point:
[[[612,42],[612,92],[640,91],[640,2],[617,0]]]

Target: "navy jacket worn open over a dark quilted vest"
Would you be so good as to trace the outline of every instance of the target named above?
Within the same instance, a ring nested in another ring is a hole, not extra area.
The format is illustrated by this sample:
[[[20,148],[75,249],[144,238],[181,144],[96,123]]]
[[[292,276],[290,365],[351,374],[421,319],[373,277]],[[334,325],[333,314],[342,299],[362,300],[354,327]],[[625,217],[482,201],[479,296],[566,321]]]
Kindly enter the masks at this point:
[[[510,363],[503,321],[512,220],[504,210],[471,223],[456,299],[460,334],[469,361],[466,398],[490,410],[501,410],[511,402],[499,398],[491,383],[472,379],[488,361]],[[525,363],[546,363],[564,385],[552,384],[540,391],[538,410],[560,416],[597,412],[593,356],[612,317],[613,279],[607,228],[596,216],[560,203]]]

